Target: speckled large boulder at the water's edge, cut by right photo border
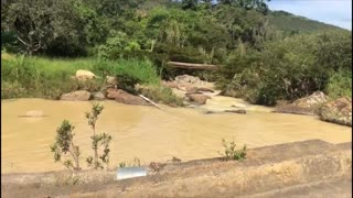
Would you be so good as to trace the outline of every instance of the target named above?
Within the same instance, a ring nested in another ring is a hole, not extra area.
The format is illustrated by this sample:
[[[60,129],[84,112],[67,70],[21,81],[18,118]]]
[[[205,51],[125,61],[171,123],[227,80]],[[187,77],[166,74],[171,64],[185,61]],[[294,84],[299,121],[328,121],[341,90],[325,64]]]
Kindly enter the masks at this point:
[[[319,116],[323,121],[352,127],[352,98],[343,97],[324,103]]]

